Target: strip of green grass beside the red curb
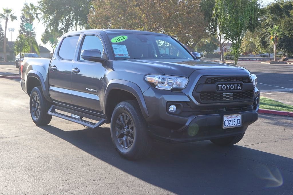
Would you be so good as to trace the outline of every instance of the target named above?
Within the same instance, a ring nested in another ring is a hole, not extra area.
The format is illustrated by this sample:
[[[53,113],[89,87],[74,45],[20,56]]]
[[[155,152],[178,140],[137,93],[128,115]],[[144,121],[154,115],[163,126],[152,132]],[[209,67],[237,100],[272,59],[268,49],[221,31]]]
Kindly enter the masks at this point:
[[[293,112],[293,106],[275,101],[270,98],[266,98],[263,96],[260,96],[260,106],[261,109],[268,109],[268,110],[276,110],[276,111],[287,111],[287,112]]]

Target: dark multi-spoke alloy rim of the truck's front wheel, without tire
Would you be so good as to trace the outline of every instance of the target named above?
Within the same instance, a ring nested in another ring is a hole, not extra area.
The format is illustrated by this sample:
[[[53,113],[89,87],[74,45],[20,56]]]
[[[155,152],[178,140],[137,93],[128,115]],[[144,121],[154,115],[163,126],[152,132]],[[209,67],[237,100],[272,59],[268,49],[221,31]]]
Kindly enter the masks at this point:
[[[134,139],[134,130],[133,123],[127,114],[122,113],[119,115],[116,120],[115,131],[120,146],[125,149],[130,148]]]

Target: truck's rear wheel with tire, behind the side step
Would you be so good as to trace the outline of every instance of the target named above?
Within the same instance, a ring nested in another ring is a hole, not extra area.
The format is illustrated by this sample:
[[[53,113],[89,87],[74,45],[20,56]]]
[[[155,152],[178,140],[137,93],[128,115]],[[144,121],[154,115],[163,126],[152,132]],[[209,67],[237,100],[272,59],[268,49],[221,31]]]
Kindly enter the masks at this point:
[[[30,116],[36,125],[49,124],[52,119],[52,115],[47,114],[50,106],[50,102],[45,99],[41,87],[34,87],[30,93]]]

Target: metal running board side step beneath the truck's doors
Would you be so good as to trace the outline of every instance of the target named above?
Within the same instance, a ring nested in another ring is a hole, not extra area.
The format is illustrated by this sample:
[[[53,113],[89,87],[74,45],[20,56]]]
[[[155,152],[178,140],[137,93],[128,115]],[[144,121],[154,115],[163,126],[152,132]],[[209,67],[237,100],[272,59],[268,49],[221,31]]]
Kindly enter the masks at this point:
[[[62,113],[58,113],[56,110],[60,110],[60,111],[70,113],[71,116],[68,116],[68,115],[65,115],[65,114],[62,114]],[[84,125],[86,127],[92,128],[92,129],[94,129],[96,127],[99,127],[99,126],[103,125],[106,122],[106,120],[104,118],[88,115],[88,114],[85,114],[85,113],[81,113],[81,112],[78,112],[78,111],[74,111],[74,110],[71,110],[71,109],[68,109],[68,108],[63,108],[61,106],[55,106],[55,105],[52,105],[51,108],[48,110],[48,115],[56,116],[58,118],[63,118],[65,120],[69,120],[71,122],[76,122],[78,124]],[[75,118],[72,115],[77,115],[77,116],[79,116],[79,118]],[[89,118],[89,119],[92,119],[92,120],[95,120],[95,121],[98,121],[98,122],[97,123],[89,122],[87,120],[83,120],[82,119],[83,117],[84,118]]]

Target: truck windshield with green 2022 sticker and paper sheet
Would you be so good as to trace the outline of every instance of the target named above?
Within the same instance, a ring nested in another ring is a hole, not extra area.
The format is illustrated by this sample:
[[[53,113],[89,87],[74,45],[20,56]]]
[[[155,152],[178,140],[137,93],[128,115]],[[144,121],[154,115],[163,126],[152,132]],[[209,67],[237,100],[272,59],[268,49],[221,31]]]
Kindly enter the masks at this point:
[[[147,34],[108,34],[116,60],[194,59],[171,37]]]

